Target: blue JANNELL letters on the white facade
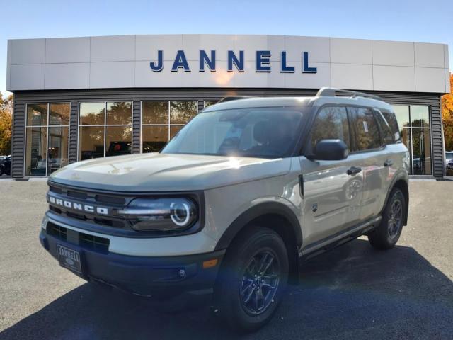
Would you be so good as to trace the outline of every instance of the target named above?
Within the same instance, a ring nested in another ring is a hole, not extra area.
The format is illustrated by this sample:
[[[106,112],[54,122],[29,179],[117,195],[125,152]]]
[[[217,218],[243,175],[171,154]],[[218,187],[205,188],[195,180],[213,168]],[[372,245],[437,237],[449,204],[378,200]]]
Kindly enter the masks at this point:
[[[269,50],[256,51],[255,72],[271,72],[271,56]],[[309,52],[302,52],[301,60],[302,73],[318,72],[316,67],[310,67],[309,65]],[[239,72],[244,72],[244,51],[239,51],[239,54],[236,54],[234,51],[229,50],[226,55],[226,61],[228,65],[226,69],[227,72],[233,72],[233,67]],[[208,55],[205,50],[200,50],[198,64],[199,72],[205,72],[205,69],[209,69],[210,72],[216,72],[216,51],[211,50],[210,55]],[[154,72],[161,72],[164,69],[164,50],[157,51],[157,61],[150,62],[149,67],[151,67],[151,70]],[[171,72],[178,72],[179,69],[184,72],[192,71],[189,67],[188,59],[185,57],[184,50],[178,50],[173,62],[171,62]],[[294,72],[296,72],[296,68],[287,63],[286,51],[280,51],[280,73]]]

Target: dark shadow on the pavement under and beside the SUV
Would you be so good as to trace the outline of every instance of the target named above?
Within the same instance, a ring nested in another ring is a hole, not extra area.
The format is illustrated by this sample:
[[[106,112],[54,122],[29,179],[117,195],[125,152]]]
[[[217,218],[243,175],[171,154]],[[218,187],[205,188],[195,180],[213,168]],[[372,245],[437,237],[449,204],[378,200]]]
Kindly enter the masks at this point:
[[[306,263],[301,277],[255,334],[232,333],[208,307],[166,314],[85,284],[0,339],[452,339],[452,280],[410,247],[375,251],[357,239]]]

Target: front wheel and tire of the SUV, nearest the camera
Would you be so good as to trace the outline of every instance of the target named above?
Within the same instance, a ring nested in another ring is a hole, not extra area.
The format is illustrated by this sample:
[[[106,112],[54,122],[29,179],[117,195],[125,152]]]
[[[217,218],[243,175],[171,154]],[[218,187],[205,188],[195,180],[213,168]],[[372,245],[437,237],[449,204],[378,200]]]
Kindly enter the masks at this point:
[[[260,266],[267,269],[259,271]],[[282,238],[271,229],[251,227],[226,251],[214,289],[214,308],[236,331],[260,329],[282,301],[288,272]]]

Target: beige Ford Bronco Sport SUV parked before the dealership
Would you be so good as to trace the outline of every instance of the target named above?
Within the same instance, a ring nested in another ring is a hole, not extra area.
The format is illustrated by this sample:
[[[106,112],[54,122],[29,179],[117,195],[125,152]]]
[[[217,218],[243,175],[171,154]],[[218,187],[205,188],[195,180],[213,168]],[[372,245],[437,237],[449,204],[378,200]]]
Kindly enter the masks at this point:
[[[396,244],[408,164],[378,97],[224,100],[159,153],[55,171],[40,242],[88,281],[159,297],[212,291],[231,326],[258,329],[302,261],[360,235]]]

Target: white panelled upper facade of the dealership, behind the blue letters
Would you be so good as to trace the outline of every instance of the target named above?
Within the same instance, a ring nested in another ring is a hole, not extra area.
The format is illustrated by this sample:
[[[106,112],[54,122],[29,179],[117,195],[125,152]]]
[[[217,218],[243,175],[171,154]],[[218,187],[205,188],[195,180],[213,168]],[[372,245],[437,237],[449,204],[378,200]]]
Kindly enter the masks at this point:
[[[158,50],[164,69],[153,72]],[[190,72],[171,72],[183,50]],[[199,71],[200,50],[216,51],[216,70]],[[227,72],[227,53],[244,53],[244,69]],[[268,50],[270,72],[256,72],[256,51]],[[281,51],[294,73],[280,72]],[[302,53],[309,67],[302,73]],[[122,35],[8,40],[8,91],[162,87],[449,92],[448,46],[281,35]]]

